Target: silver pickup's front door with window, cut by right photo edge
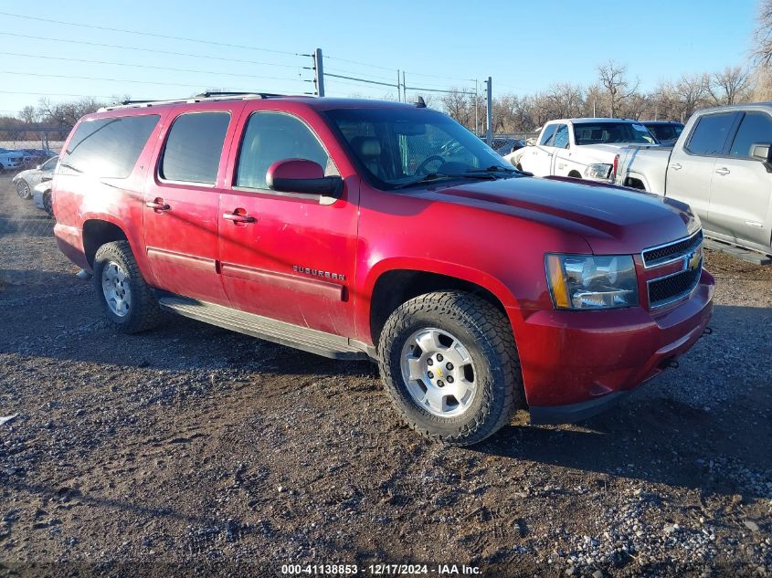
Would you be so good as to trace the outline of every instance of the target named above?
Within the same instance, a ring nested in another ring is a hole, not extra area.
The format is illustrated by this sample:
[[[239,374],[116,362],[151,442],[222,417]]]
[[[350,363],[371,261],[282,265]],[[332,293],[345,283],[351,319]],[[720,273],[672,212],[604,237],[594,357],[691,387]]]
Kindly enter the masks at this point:
[[[717,159],[708,210],[710,229],[769,246],[772,173],[751,156],[754,144],[772,142],[772,116],[762,110],[743,115],[729,154]]]

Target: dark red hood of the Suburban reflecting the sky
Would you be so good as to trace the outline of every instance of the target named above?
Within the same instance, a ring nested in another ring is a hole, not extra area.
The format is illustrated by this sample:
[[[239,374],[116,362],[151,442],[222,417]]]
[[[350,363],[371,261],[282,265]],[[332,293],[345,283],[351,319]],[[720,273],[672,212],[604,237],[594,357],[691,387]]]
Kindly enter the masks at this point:
[[[438,201],[471,205],[584,237],[595,254],[634,254],[700,227],[689,205],[567,177],[513,177],[437,188]]]

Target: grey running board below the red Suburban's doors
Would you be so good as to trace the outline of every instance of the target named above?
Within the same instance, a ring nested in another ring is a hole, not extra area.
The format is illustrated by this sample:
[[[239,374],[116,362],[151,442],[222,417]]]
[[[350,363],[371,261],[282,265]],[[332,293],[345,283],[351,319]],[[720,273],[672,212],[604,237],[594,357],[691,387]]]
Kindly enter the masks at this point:
[[[304,352],[316,353],[331,359],[369,359],[365,343],[340,335],[184,297],[164,296],[158,300],[158,303],[162,309],[178,315],[204,321],[230,331],[238,331],[267,342],[294,347]]]

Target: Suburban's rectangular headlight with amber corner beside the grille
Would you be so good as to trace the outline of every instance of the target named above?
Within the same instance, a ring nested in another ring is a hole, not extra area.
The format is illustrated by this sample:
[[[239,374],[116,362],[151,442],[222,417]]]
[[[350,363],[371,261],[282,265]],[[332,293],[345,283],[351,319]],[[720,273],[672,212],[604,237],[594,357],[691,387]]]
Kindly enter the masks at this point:
[[[638,281],[629,255],[546,255],[555,309],[637,307]]]

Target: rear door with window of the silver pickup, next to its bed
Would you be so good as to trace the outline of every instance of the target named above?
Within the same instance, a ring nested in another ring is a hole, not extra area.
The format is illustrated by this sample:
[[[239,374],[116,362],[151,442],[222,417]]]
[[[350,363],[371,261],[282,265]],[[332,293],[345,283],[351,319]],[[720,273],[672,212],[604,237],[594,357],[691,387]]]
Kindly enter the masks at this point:
[[[707,220],[716,159],[727,150],[736,112],[705,114],[694,125],[683,147],[673,149],[667,172],[667,196],[692,206]]]

